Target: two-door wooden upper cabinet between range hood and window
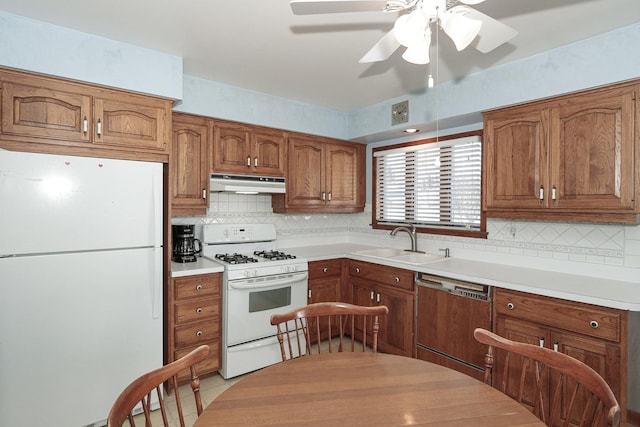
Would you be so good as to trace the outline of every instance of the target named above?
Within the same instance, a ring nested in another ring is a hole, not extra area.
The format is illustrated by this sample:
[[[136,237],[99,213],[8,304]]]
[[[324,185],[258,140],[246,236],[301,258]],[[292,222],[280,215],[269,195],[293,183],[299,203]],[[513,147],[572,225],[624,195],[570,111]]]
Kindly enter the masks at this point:
[[[362,212],[365,146],[289,134],[287,192],[273,196],[274,212]]]

